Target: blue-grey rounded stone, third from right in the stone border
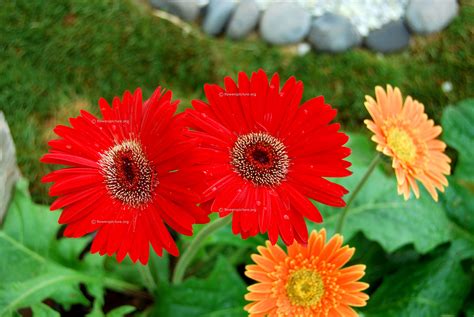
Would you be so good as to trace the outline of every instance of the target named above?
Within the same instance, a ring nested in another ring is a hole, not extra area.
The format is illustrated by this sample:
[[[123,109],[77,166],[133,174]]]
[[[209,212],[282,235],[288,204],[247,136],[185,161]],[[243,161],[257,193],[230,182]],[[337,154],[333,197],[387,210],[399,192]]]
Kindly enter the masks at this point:
[[[316,49],[328,52],[343,52],[362,42],[348,18],[332,13],[313,21],[308,40]]]

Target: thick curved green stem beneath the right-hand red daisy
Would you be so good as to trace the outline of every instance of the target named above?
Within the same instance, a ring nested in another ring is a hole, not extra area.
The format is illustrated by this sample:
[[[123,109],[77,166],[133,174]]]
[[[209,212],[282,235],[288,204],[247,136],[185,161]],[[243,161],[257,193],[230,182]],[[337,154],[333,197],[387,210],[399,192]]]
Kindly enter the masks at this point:
[[[219,218],[209,223],[201,231],[199,231],[199,233],[196,235],[194,240],[191,241],[191,244],[183,253],[183,255],[179,258],[178,263],[176,264],[176,268],[174,270],[173,278],[172,278],[173,284],[179,284],[183,281],[184,273],[186,272],[188,265],[191,263],[194,256],[201,248],[204,240],[214,231],[230,223],[231,220],[232,220],[231,216]]]

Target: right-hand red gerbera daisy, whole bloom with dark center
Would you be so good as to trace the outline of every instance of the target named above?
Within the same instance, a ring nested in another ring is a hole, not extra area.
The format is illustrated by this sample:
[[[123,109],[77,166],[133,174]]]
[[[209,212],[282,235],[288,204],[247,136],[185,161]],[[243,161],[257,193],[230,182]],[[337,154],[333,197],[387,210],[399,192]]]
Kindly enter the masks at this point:
[[[268,232],[272,243],[278,235],[287,245],[306,243],[304,218],[322,221],[308,198],[345,205],[347,190],[325,179],[350,175],[348,137],[330,123],[336,110],[323,97],[299,106],[303,83],[293,77],[281,90],[278,74],[269,82],[262,70],[224,82],[206,85],[209,104],[195,100],[186,112],[204,204],[221,217],[232,213],[243,238]]]

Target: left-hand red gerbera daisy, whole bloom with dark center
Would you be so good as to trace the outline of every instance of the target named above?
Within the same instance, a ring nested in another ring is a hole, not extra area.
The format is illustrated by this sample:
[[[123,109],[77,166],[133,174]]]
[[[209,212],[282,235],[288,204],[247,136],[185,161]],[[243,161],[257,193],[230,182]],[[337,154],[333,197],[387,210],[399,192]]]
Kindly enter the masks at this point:
[[[72,127],[54,129],[60,138],[41,161],[69,168],[43,178],[54,182],[50,195],[60,196],[51,210],[64,208],[59,223],[67,224],[67,237],[97,231],[92,253],[116,253],[118,261],[128,254],[145,264],[151,243],[159,255],[163,248],[178,255],[166,225],[191,235],[194,223],[208,219],[182,176],[191,144],[171,95],[158,88],[143,103],[140,89],[125,92],[112,106],[99,100],[103,119],[81,111]]]

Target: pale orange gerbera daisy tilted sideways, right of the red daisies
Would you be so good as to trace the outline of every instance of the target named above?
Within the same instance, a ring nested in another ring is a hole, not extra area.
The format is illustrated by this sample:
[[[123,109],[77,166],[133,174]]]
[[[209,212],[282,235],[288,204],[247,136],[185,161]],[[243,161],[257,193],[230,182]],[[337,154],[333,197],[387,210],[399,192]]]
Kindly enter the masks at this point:
[[[375,87],[377,100],[365,96],[365,107],[372,120],[365,120],[367,128],[374,133],[372,140],[377,143],[377,151],[393,157],[392,167],[398,182],[398,193],[405,200],[413,189],[416,198],[420,191],[419,180],[435,201],[436,189],[444,192],[448,186],[445,175],[449,175],[451,159],[444,154],[446,144],[436,137],[441,127],[428,119],[422,103],[408,96],[403,103],[400,89],[387,85]]]

